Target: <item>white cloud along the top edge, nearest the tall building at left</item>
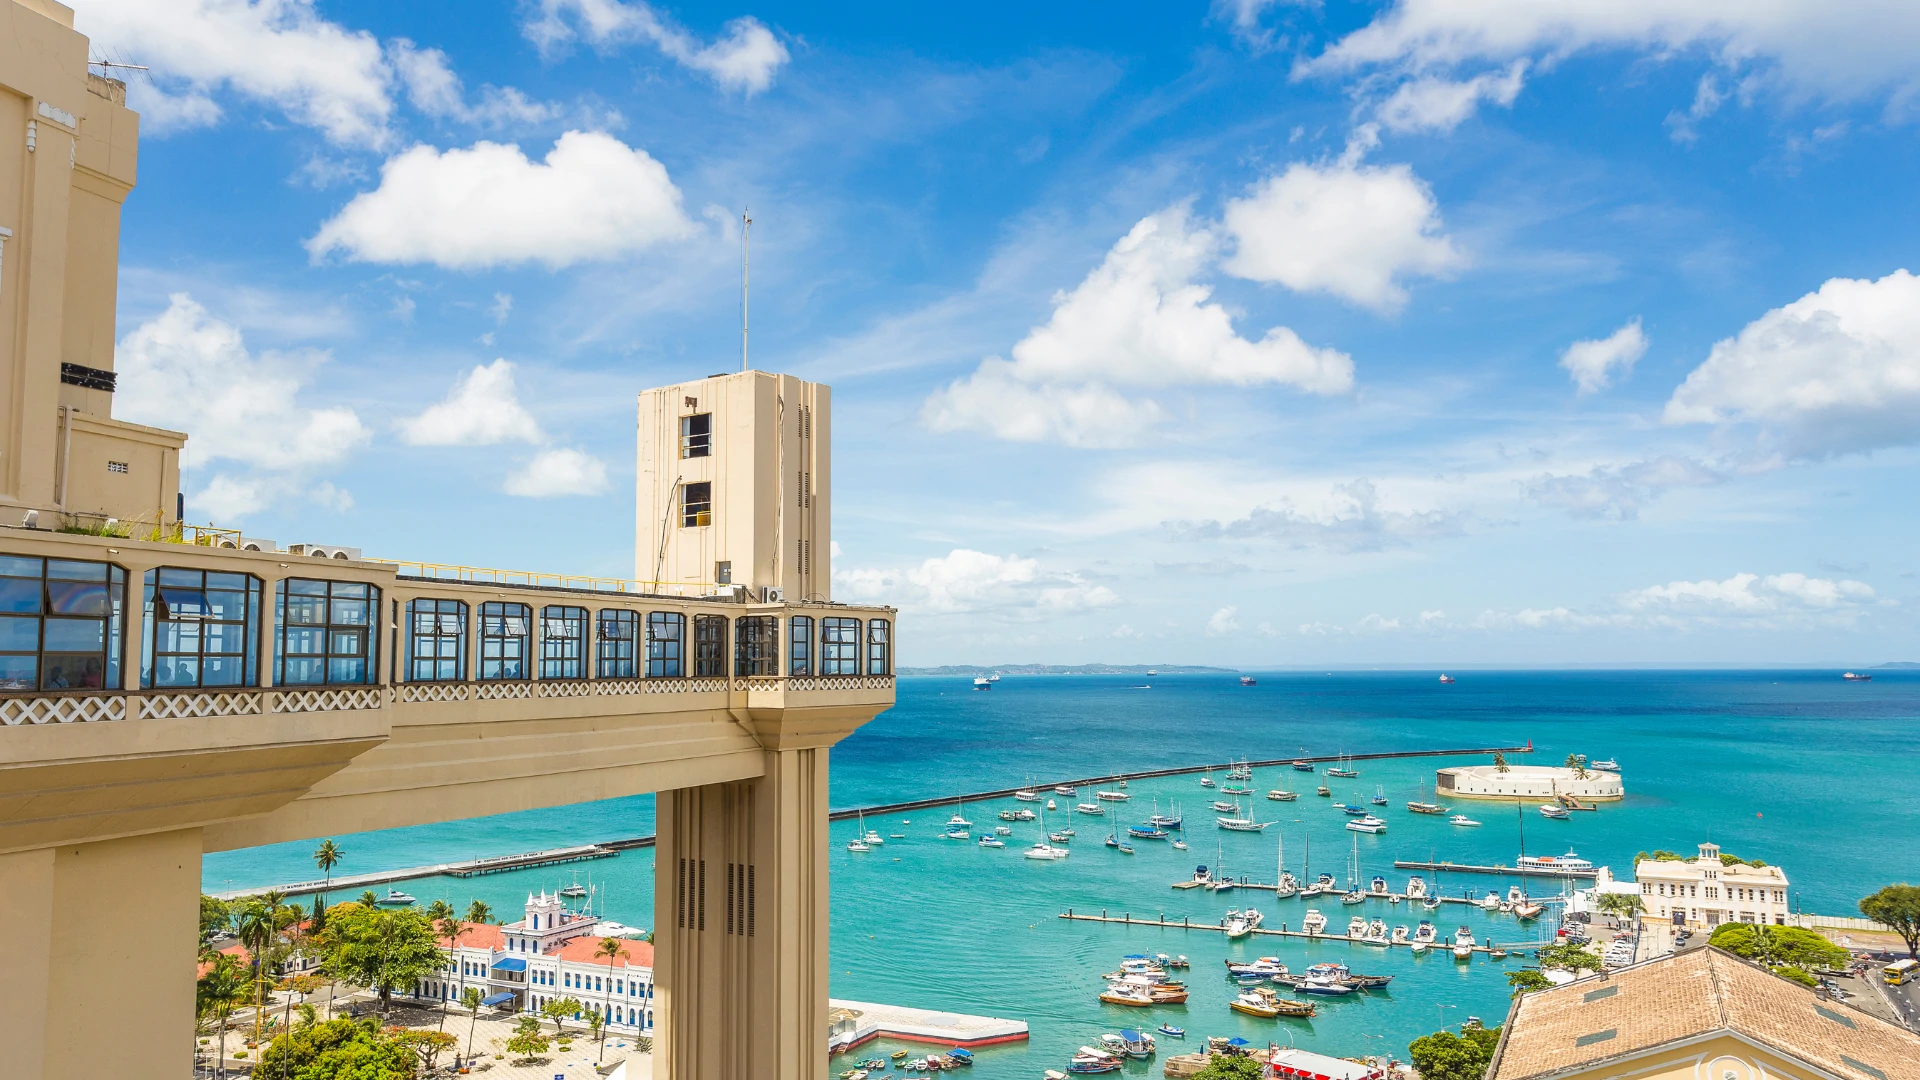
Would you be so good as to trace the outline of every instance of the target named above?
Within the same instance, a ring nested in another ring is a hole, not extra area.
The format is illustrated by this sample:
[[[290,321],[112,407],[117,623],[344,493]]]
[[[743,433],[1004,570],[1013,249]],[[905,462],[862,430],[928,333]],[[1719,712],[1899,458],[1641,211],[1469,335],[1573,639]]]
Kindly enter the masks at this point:
[[[202,127],[230,90],[342,146],[378,146],[394,102],[380,44],[319,15],[313,0],[75,0],[96,50],[152,67],[129,90],[142,119]]]

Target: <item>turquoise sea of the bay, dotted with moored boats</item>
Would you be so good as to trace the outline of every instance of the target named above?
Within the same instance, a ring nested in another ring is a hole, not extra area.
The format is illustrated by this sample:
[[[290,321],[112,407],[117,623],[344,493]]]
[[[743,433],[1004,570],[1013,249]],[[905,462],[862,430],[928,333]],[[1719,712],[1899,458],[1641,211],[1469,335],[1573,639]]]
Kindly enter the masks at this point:
[[[1519,761],[1561,763],[1569,753],[1613,757],[1628,798],[1597,813],[1548,821],[1528,811],[1532,853],[1576,849],[1626,876],[1632,855],[1668,847],[1688,851],[1713,840],[1730,853],[1786,869],[1803,911],[1853,915],[1853,903],[1895,880],[1920,880],[1920,673],[1876,673],[1872,682],[1841,682],[1837,671],[1578,671],[1457,673],[1442,686],[1434,673],[1258,673],[1242,688],[1235,675],[1179,676],[1008,676],[991,692],[966,678],[902,678],[899,705],[833,751],[833,805],[872,805],[912,798],[991,790],[1023,782],[1108,771],[1135,771],[1229,757],[1308,753],[1377,753],[1524,744],[1536,753]],[[1432,771],[1482,759],[1398,759],[1357,763],[1354,780],[1327,780],[1332,799],[1311,794],[1315,776],[1260,769],[1254,790],[1283,780],[1300,801],[1254,799],[1265,834],[1213,828],[1208,803],[1217,798],[1196,776],[1135,780],[1123,813],[1133,821],[1160,807],[1188,819],[1188,851],[1164,842],[1137,842],[1119,855],[1100,844],[1100,819],[1056,813],[1079,836],[1060,863],[1021,857],[1033,824],[1014,824],[1004,849],[941,840],[950,807],[868,819],[887,840],[866,855],[845,849],[854,822],[835,824],[833,847],[833,995],[924,1009],[1018,1017],[1031,1024],[1025,1045],[979,1053],[981,1080],[1039,1076],[1062,1068],[1073,1047],[1121,1026],[1152,1028],[1169,1020],[1202,1034],[1238,1034],[1254,1042],[1290,1042],[1323,1053],[1390,1051],[1405,1057],[1409,1040],[1467,1015],[1490,1024],[1505,1015],[1501,965],[1455,963],[1448,955],[1413,957],[1338,942],[1296,944],[1254,938],[1227,944],[1217,932],[1069,922],[1066,909],[1217,922],[1229,905],[1254,903],[1273,924],[1298,928],[1308,903],[1273,901],[1256,892],[1225,896],[1173,890],[1196,863],[1273,880],[1277,844],[1296,874],[1311,851],[1313,872],[1346,878],[1356,834],[1329,801],[1361,801],[1375,790],[1392,799],[1388,830],[1359,836],[1363,878],[1384,874],[1396,890],[1407,871],[1400,859],[1511,863],[1519,853],[1511,805],[1461,803],[1484,822],[1453,828],[1444,817],[1404,809],[1423,798]],[[1304,786],[1302,786],[1304,784]],[[1091,792],[1083,788],[1083,798]],[[1018,805],[968,803],[975,828],[998,824],[995,811]],[[1060,809],[1071,809],[1060,799]],[[340,836],[348,861],[340,872],[411,867],[476,855],[530,851],[647,834],[651,796],[484,817],[474,821]],[[225,890],[313,876],[311,842],[227,851],[205,859],[205,888]],[[405,888],[422,901],[445,897],[461,907],[478,897],[505,919],[518,917],[530,890],[576,876],[601,890],[601,907],[634,926],[653,924],[653,853],[639,849],[576,867],[524,871],[490,878],[430,878]],[[1432,878],[1428,874],[1428,878]],[[1494,876],[1442,878],[1448,896],[1473,888],[1505,892]],[[1538,888],[1538,886],[1536,886]],[[1348,909],[1332,897],[1313,901],[1344,928],[1356,911],[1388,924],[1417,924],[1405,905],[1369,901]],[[1432,915],[1442,934],[1459,924],[1486,940],[1521,942],[1536,932],[1511,917],[1446,905]],[[1544,920],[1546,922],[1546,920]],[[1123,953],[1185,953],[1192,997],[1152,1011],[1096,1001],[1098,974]],[[1356,970],[1394,974],[1388,992],[1321,1003],[1311,1020],[1258,1020],[1227,1009],[1221,959],[1279,955],[1302,969],[1346,959]],[[1519,967],[1509,959],[1505,967]],[[1152,1019],[1148,1019],[1148,1015]],[[879,1045],[877,1049],[895,1049]],[[906,1049],[906,1047],[900,1047]],[[1179,1051],[1162,1040],[1162,1055]],[[922,1047],[922,1053],[925,1047]],[[835,1070],[841,1067],[835,1067]],[[1131,1063],[1129,1074],[1158,1076],[1160,1063]]]

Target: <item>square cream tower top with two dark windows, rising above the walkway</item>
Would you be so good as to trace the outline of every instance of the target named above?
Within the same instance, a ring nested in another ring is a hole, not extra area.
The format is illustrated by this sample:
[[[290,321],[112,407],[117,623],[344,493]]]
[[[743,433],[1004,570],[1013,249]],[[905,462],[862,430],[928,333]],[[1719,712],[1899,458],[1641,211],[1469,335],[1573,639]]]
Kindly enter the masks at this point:
[[[828,386],[764,371],[641,392],[634,577],[831,600],[829,411]]]

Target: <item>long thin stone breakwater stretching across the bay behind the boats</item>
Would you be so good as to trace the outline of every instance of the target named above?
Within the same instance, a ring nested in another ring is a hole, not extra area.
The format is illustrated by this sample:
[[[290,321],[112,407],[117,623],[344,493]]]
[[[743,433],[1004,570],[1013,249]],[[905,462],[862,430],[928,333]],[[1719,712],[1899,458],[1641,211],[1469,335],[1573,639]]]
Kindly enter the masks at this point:
[[[1150,780],[1150,778],[1156,778],[1156,776],[1185,776],[1185,774],[1192,774],[1192,773],[1210,773],[1210,771],[1215,771],[1215,769],[1225,771],[1225,769],[1233,769],[1235,765],[1246,765],[1250,769],[1275,769],[1275,767],[1281,767],[1281,765],[1290,767],[1294,761],[1300,761],[1300,763],[1306,763],[1306,765],[1325,765],[1325,763],[1331,763],[1331,761],[1390,761],[1390,759],[1398,759],[1398,757],[1461,757],[1461,755],[1475,755],[1475,753],[1532,753],[1532,751],[1534,751],[1532,744],[1526,744],[1526,746],[1471,746],[1471,748],[1457,748],[1457,749],[1388,749],[1388,751],[1379,751],[1379,753],[1319,753],[1319,755],[1306,755],[1304,753],[1304,755],[1298,755],[1298,757],[1273,757],[1273,759],[1265,759],[1265,761],[1212,761],[1212,763],[1202,763],[1202,765],[1175,765],[1175,767],[1169,767],[1169,769],[1140,769],[1140,771],[1135,771],[1135,773],[1104,773],[1100,776],[1081,776],[1081,778],[1075,778],[1075,780],[1035,780],[1033,782],[1033,790],[1050,792],[1054,788],[1083,788],[1083,786],[1092,786],[1092,784],[1117,784],[1117,782],[1123,782],[1123,780]],[[929,807],[947,807],[947,805],[954,805],[956,801],[970,803],[970,801],[985,801],[985,799],[1006,799],[1006,798],[1012,798],[1014,792],[1023,792],[1023,790],[1027,790],[1027,788],[995,788],[991,792],[968,792],[968,794],[941,796],[941,798],[931,798],[931,799],[910,799],[910,801],[904,801],[904,803],[879,803],[879,805],[870,805],[870,807],[847,807],[847,809],[829,811],[828,813],[828,821],[851,821],[851,819],[860,817],[860,815],[883,815],[883,813],[904,813],[904,811],[918,811],[918,809],[929,809]],[[242,899],[242,897],[250,897],[250,896],[261,896],[265,892],[282,892],[282,894],[288,894],[288,896],[321,894],[321,892],[338,894],[338,892],[348,892],[348,890],[363,890],[363,888],[371,888],[371,886],[384,886],[384,884],[407,882],[407,880],[419,880],[419,878],[434,878],[434,876],[474,878],[474,876],[482,876],[482,874],[503,874],[503,872],[509,872],[509,871],[532,871],[532,869],[538,869],[538,867],[559,867],[559,865],[564,865],[564,863],[582,863],[582,861],[588,861],[588,859],[611,859],[611,857],[618,855],[620,851],[628,851],[628,849],[634,849],[634,847],[653,847],[653,836],[651,834],[649,836],[628,836],[628,838],[622,838],[622,840],[603,840],[603,842],[597,842],[597,844],[580,844],[580,846],[574,846],[574,847],[549,847],[545,851],[526,851],[526,853],[518,853],[518,855],[488,855],[488,857],[482,857],[482,859],[467,859],[467,861],[459,861],[459,863],[434,863],[430,867],[403,867],[403,869],[394,869],[394,871],[372,871],[372,872],[365,872],[365,874],[340,874],[340,876],[332,878],[330,882],[326,882],[326,880],[309,880],[309,882],[288,882],[288,884],[278,884],[278,886],[257,886],[257,888],[225,890],[225,892],[215,892],[215,894],[207,894],[207,896],[213,896],[217,899]],[[1400,867],[1402,863],[1394,863],[1394,865]],[[1428,863],[1405,863],[1405,865],[1407,867],[1415,867],[1415,865],[1425,867]],[[1438,869],[1461,869],[1461,871],[1467,871],[1467,872],[1519,872],[1519,871],[1496,871],[1496,869],[1471,871],[1469,867],[1455,867],[1452,863],[1434,865],[1434,867],[1438,867]],[[1246,888],[1273,888],[1273,886],[1252,886],[1250,884]]]

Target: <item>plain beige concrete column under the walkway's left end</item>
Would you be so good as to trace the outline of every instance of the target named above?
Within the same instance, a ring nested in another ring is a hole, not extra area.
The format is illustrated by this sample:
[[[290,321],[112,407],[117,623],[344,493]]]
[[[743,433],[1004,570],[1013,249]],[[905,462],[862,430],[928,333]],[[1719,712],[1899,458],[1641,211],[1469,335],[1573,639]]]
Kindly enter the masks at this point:
[[[138,915],[129,919],[129,905]],[[0,855],[6,1076],[179,1080],[192,1068],[200,830]]]

